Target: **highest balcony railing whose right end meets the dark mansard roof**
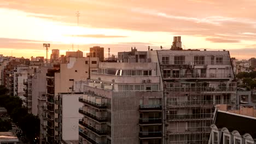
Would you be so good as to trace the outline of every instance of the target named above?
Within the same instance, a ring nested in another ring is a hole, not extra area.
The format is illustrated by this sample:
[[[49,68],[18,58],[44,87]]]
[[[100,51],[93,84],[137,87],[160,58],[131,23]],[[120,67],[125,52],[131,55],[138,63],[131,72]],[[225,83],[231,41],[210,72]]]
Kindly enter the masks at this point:
[[[184,120],[184,119],[212,119],[212,113],[185,114],[185,115],[166,115],[167,121]]]

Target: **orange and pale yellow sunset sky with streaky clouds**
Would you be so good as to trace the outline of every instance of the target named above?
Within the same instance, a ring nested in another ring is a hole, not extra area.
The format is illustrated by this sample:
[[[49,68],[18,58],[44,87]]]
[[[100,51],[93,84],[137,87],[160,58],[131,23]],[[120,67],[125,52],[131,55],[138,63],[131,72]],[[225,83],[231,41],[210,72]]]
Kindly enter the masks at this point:
[[[170,49],[179,35],[183,49],[248,59],[256,53],[255,8],[255,0],[0,0],[0,53],[46,57],[50,43],[49,53],[98,45],[117,55],[135,46]]]

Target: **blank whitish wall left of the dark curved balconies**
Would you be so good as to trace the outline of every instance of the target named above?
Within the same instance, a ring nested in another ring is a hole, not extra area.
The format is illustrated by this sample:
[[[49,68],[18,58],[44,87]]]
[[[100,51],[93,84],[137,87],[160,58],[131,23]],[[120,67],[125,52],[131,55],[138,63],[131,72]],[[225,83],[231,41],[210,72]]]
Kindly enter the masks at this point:
[[[62,139],[78,140],[78,121],[83,117],[78,112],[83,106],[78,101],[83,94],[61,94],[62,96]]]

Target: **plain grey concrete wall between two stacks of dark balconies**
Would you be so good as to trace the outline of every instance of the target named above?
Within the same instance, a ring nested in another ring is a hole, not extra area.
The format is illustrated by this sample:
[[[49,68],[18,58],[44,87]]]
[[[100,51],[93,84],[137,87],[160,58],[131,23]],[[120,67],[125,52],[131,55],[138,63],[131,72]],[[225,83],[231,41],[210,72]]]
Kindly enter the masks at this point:
[[[112,143],[139,143],[139,99],[162,98],[162,92],[113,92]]]

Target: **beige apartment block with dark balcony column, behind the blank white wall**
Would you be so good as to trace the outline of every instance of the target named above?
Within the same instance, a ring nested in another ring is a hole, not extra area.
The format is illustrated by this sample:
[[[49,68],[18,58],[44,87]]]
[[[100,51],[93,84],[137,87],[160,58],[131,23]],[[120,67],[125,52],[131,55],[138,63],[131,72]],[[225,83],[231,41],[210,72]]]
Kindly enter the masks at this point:
[[[55,143],[61,140],[59,105],[56,104],[59,93],[75,92],[77,81],[86,81],[90,71],[97,71],[98,58],[68,57],[68,63],[61,63],[59,68],[49,69],[46,74],[46,142]],[[72,105],[67,107],[71,107]],[[65,126],[65,125],[64,125]]]

